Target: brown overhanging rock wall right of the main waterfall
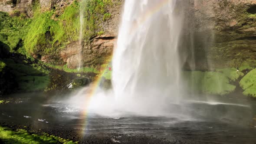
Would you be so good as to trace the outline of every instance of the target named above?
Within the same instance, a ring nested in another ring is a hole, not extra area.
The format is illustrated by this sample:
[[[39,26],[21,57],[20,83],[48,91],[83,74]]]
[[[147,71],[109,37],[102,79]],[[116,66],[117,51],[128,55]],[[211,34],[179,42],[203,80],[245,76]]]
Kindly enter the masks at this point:
[[[196,62],[192,69],[254,66],[256,0],[190,0],[183,34],[181,47],[194,51],[186,56]]]

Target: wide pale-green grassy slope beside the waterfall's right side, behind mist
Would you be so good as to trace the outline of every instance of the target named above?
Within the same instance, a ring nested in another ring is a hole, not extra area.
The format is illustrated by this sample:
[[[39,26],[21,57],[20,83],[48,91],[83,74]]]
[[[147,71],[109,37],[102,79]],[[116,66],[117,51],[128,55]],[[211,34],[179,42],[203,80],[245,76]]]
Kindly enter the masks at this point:
[[[235,85],[230,84],[234,76],[227,76],[230,70],[222,72],[184,72],[184,78],[192,92],[203,92],[205,94],[225,95],[233,92]]]

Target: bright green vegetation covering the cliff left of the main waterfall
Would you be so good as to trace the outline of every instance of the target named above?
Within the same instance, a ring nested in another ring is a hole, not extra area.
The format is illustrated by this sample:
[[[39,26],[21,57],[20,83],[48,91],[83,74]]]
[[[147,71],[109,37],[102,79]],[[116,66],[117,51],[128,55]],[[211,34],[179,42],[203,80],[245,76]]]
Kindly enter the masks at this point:
[[[113,4],[112,0],[87,0],[85,3],[75,0],[62,13],[57,13],[55,9],[42,12],[39,4],[34,3],[31,19],[24,14],[11,17],[8,13],[0,12],[1,92],[9,93],[3,89],[10,88],[13,88],[13,92],[49,89],[49,71],[43,65],[66,72],[99,73],[94,68],[69,69],[63,62],[59,66],[43,62],[35,64],[38,62],[35,59],[40,60],[42,56],[58,62],[59,50],[79,40],[81,4],[84,5],[86,23],[83,39],[89,42],[93,36],[104,33],[101,23],[111,17],[106,7]],[[8,86],[7,83],[12,84]]]

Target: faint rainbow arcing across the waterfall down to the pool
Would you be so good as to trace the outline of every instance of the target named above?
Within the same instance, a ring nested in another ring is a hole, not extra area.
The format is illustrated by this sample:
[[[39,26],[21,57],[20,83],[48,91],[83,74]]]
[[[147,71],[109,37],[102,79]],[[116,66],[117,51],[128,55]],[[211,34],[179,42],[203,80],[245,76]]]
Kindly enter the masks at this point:
[[[166,6],[169,2],[170,2],[170,0],[159,0],[158,4],[154,5],[154,7],[151,7],[148,10],[146,10],[145,13],[143,14],[143,16],[141,16],[140,19],[136,23],[133,24],[131,33],[136,32],[138,30],[139,26],[142,26],[151,16],[153,16],[155,13],[157,13],[159,10],[161,10],[161,8]],[[112,61],[112,56],[113,56],[113,54],[111,56],[109,56],[108,59],[105,60],[104,64],[107,65],[106,68],[96,76],[96,79],[90,85],[90,90],[89,90],[89,94],[87,95],[87,98],[86,98],[87,100],[86,100],[85,106],[89,105],[90,99],[95,95],[95,92],[97,91],[100,82],[102,82],[103,75],[104,75],[106,69],[108,69],[108,65]],[[82,112],[82,118],[84,118],[84,120],[85,120],[85,127],[87,126],[87,117],[88,117],[88,109],[85,108],[85,110]],[[83,128],[82,128],[82,130],[83,130]]]

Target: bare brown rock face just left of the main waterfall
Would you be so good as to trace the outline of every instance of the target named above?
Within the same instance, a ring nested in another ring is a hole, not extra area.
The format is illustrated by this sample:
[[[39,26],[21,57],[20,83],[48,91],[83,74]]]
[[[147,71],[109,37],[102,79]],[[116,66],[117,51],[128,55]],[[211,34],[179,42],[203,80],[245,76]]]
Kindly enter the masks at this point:
[[[120,3],[123,3],[120,0]],[[118,26],[121,18],[122,5],[107,7],[111,17],[102,21],[98,27],[102,27],[104,34],[93,36],[88,43],[82,47],[82,63],[84,66],[100,66],[105,60],[112,56],[114,46],[118,36]],[[67,63],[69,68],[76,68],[79,63],[79,41],[69,44],[64,50],[60,51],[61,59]]]

